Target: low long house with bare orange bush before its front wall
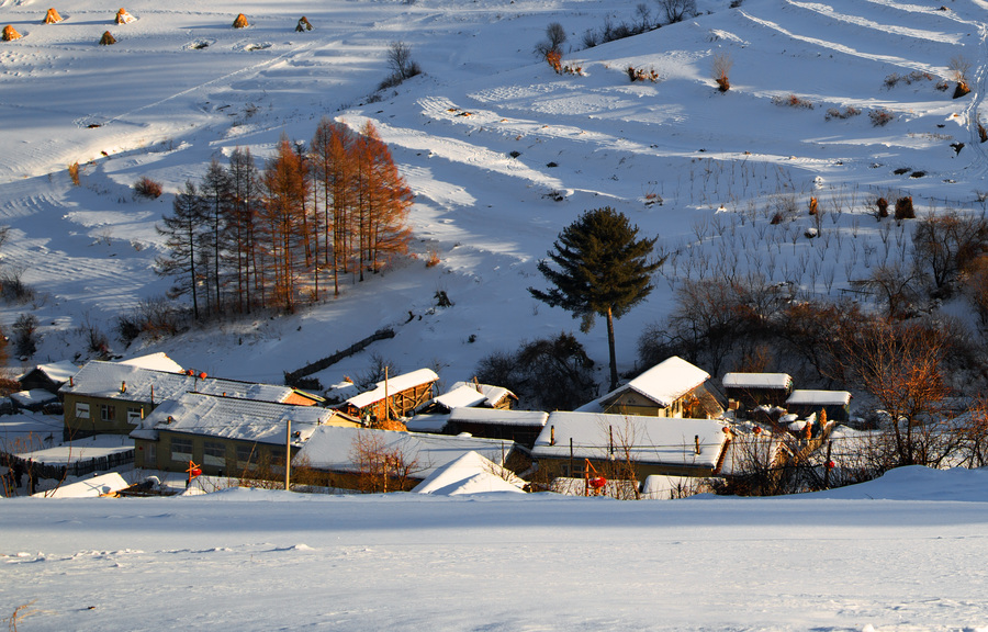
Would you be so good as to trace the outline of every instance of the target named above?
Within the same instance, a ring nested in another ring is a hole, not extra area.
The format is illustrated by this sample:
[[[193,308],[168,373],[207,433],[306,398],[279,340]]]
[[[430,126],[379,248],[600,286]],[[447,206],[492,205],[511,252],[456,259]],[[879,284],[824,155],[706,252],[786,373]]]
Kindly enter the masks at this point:
[[[292,460],[316,484],[362,492],[407,492],[437,470],[473,451],[504,465],[512,441],[321,426]]]

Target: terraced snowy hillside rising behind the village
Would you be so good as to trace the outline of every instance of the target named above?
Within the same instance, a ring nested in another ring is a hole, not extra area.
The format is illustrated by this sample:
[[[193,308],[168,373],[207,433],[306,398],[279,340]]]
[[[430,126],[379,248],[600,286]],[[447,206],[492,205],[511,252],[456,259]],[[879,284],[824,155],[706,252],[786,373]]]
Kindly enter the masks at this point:
[[[563,226],[611,205],[671,253],[656,291],[617,323],[627,370],[677,280],[756,271],[837,295],[906,255],[905,229],[883,234],[866,214],[877,195],[911,194],[921,213],[981,208],[988,2],[700,0],[695,19],[583,49],[587,30],[633,21],[636,4],[136,0],[126,7],[136,20],[114,25],[117,4],[66,0],[66,20],[44,25],[46,4],[3,0],[0,21],[23,37],[0,46],[0,222],[12,228],[2,256],[35,296],[0,320],[37,315],[35,361],[86,354],[80,327],[113,338],[121,311],[167,289],[153,271],[154,225],[171,193],[238,146],[265,157],[282,133],[308,140],[324,115],[374,122],[416,194],[414,250],[437,251],[439,266],[402,261],[299,315],[214,325],[153,350],[211,374],[280,381],[391,326],[397,336],[372,351],[446,383],[470,377],[494,350],[576,330],[526,289],[543,283],[536,263]],[[250,26],[232,29],[238,12]],[[296,33],[303,14],[314,30]],[[563,61],[582,76],[555,75],[532,54],[550,22],[566,30]],[[106,30],[117,44],[97,45]],[[395,41],[424,75],[370,99]],[[723,54],[727,93],[711,79]],[[972,92],[954,100],[957,57],[970,63]],[[629,66],[658,80],[630,82]],[[67,172],[76,161],[79,187]],[[144,176],[168,194],[135,199]],[[815,240],[802,237],[811,195],[826,212]],[[799,218],[770,226],[781,204]],[[454,305],[435,308],[437,290]],[[603,365],[604,325],[577,336]],[[328,384],[368,362],[364,352],[319,376]]]

